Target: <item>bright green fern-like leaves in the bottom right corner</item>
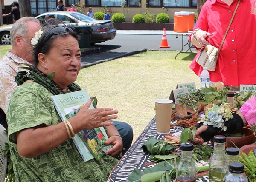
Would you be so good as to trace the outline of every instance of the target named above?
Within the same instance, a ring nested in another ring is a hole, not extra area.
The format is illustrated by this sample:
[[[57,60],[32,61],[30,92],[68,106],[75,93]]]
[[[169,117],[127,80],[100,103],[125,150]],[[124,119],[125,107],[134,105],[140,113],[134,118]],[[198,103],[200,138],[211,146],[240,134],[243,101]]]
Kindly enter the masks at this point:
[[[240,151],[239,162],[244,164],[244,171],[247,173],[249,182],[256,182],[256,157],[253,151],[250,151],[248,156]]]

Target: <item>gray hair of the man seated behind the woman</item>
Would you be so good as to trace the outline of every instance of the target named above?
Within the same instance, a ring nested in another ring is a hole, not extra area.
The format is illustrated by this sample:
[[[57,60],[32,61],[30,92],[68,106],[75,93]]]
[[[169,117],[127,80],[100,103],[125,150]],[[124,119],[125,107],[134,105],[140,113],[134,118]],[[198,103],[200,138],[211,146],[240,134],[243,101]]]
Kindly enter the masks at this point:
[[[17,20],[13,25],[12,29],[10,31],[10,37],[11,37],[11,45],[14,46],[15,43],[15,36],[20,35],[23,37],[26,37],[27,32],[28,32],[28,26],[26,22],[28,21],[33,21],[36,22],[40,25],[40,22],[38,19],[34,17],[22,17],[19,20]]]

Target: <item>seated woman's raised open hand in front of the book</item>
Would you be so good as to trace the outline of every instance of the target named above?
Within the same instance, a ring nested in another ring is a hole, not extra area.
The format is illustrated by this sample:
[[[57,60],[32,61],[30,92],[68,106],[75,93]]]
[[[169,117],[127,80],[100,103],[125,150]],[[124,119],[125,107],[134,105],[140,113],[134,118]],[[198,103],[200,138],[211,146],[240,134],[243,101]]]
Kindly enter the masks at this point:
[[[117,118],[118,111],[113,110],[113,108],[89,109],[91,102],[92,100],[89,99],[75,116],[79,122],[83,122],[83,129],[113,125],[110,120]]]

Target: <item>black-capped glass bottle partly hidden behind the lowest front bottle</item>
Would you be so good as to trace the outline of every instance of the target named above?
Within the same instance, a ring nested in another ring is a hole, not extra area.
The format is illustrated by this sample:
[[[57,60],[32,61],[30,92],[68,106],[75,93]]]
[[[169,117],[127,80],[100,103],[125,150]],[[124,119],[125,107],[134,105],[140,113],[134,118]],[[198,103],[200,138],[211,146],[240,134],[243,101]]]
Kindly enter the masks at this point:
[[[226,148],[226,166],[222,171],[222,181],[224,182],[224,177],[227,175],[230,163],[238,162],[239,149],[235,147]]]

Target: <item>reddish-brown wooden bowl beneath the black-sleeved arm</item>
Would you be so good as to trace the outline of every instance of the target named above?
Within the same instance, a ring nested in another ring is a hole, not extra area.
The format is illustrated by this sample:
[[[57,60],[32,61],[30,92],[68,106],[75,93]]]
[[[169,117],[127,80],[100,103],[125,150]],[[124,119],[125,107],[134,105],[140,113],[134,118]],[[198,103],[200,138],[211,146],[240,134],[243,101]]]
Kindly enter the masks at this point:
[[[227,137],[226,147],[241,148],[244,145],[249,145],[255,142],[255,136],[250,128],[243,127],[238,130],[230,131],[229,134],[241,133],[244,137]],[[212,146],[214,146],[213,139],[211,139]],[[235,146],[236,145],[236,146]]]

